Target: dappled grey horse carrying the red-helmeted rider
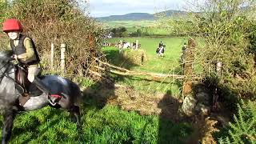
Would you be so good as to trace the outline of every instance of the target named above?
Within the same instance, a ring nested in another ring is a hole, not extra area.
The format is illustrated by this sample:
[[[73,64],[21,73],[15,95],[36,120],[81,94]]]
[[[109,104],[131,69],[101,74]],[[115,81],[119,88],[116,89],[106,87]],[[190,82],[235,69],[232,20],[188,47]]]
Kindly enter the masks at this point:
[[[15,82],[15,66],[10,62],[12,52],[0,52],[0,110],[3,114],[2,143],[10,140],[11,130],[13,127],[14,117],[18,111],[37,110],[44,106],[50,105],[48,96],[36,89],[34,85],[30,85],[30,90],[35,97],[20,106],[18,98],[22,97],[18,90],[17,82]],[[70,112],[73,122],[77,122],[78,128],[81,128],[80,112],[78,99],[81,92],[74,82],[66,78],[55,75],[46,75],[40,77],[42,82],[50,88],[51,94],[62,94],[62,98],[57,103],[56,108],[62,108]],[[15,86],[16,85],[16,86]]]

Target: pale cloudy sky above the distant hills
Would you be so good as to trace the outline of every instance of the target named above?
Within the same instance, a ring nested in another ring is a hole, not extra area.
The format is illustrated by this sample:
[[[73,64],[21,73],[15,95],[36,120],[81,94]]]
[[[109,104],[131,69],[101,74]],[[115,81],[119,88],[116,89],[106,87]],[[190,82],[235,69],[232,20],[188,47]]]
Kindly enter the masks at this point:
[[[163,10],[182,10],[186,0],[87,0],[90,16],[104,17],[128,13],[154,14]]]

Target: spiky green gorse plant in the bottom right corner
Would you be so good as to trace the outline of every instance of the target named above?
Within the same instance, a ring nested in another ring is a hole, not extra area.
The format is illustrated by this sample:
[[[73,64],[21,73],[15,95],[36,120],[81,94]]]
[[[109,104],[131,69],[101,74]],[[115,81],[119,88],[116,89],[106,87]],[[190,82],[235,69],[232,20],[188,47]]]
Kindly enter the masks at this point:
[[[229,134],[222,136],[219,143],[255,143],[256,142],[256,105],[255,102],[238,104],[238,114],[230,122]]]

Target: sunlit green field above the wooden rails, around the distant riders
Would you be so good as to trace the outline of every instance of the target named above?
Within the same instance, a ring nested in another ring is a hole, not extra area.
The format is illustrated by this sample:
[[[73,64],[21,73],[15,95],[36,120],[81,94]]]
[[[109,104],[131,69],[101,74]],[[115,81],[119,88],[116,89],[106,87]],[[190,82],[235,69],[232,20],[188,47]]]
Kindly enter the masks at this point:
[[[175,70],[175,68],[179,67],[179,60],[182,54],[182,46],[184,42],[186,42],[186,38],[112,38],[106,42],[118,42],[119,40],[125,40],[126,42],[134,42],[138,40],[138,43],[141,44],[141,49],[146,51],[147,62],[143,63],[142,66],[134,66],[131,70],[145,70],[155,73],[175,73],[179,72],[179,70]],[[166,45],[165,56],[162,58],[157,58],[156,56],[156,48],[158,47],[158,43],[162,41],[164,45]],[[117,48],[104,47],[103,51],[113,51],[117,50]],[[107,56],[110,58],[112,62],[114,62],[114,55]],[[122,66],[120,64],[119,66]]]

